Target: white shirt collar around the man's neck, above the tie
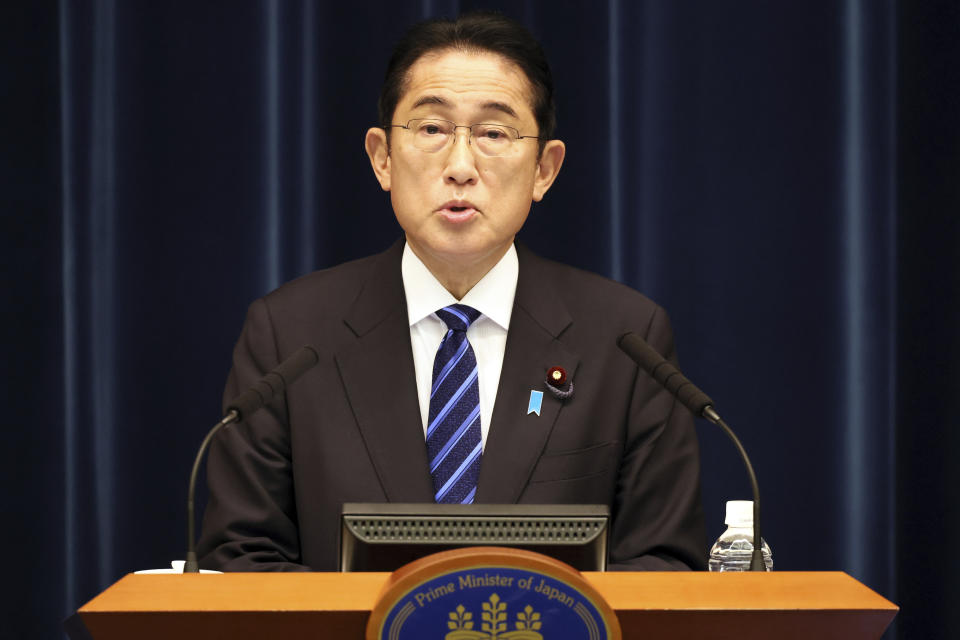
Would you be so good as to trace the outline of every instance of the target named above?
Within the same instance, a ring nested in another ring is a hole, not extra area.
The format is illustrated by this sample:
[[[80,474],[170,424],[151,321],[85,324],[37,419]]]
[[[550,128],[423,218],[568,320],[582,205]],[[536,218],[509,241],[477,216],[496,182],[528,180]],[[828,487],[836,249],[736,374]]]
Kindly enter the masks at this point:
[[[500,261],[475,284],[462,300],[457,300],[434,277],[423,261],[410,249],[403,247],[400,261],[403,289],[407,296],[407,317],[410,326],[417,324],[437,309],[451,304],[469,305],[490,318],[504,330],[510,327],[513,298],[517,292],[517,277],[520,273],[517,249],[513,244]]]

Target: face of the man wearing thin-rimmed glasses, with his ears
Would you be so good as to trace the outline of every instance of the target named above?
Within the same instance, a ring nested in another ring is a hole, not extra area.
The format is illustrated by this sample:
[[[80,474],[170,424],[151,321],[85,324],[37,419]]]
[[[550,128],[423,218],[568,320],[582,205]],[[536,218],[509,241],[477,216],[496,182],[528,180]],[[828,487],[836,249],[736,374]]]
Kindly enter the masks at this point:
[[[498,123],[535,136],[531,104],[530,83],[515,64],[491,53],[444,51],[410,68],[393,124],[414,118]],[[367,134],[374,172],[390,192],[407,242],[434,273],[491,268],[563,161],[560,141],[548,143],[538,159],[535,139],[515,141],[506,156],[488,157],[475,141],[468,144],[467,129],[457,129],[455,140],[436,152],[417,149],[405,129],[391,129],[389,148],[380,134]]]

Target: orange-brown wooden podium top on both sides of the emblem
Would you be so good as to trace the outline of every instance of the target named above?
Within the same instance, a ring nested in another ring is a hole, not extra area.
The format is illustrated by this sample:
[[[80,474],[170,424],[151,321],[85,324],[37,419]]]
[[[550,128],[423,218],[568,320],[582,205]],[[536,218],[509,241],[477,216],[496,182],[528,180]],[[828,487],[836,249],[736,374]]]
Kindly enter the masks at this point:
[[[898,611],[840,572],[583,575],[625,639],[878,639]],[[79,615],[94,640],[363,638],[389,576],[129,574]]]

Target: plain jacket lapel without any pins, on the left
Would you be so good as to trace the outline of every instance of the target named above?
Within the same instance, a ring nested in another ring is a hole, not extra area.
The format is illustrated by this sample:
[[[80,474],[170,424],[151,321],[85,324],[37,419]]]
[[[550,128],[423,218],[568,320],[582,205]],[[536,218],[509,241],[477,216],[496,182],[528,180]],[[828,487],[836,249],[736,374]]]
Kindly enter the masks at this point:
[[[433,502],[400,258],[381,255],[344,318],[356,334],[336,354],[350,406],[389,502]]]

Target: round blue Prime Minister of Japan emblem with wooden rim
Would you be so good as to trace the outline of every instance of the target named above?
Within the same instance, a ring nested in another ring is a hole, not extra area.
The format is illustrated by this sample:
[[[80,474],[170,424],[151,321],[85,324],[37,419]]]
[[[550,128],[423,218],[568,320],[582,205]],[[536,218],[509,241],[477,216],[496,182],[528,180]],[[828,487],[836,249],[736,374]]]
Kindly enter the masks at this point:
[[[570,566],[530,551],[473,547],[397,570],[367,640],[619,640],[609,605]]]

